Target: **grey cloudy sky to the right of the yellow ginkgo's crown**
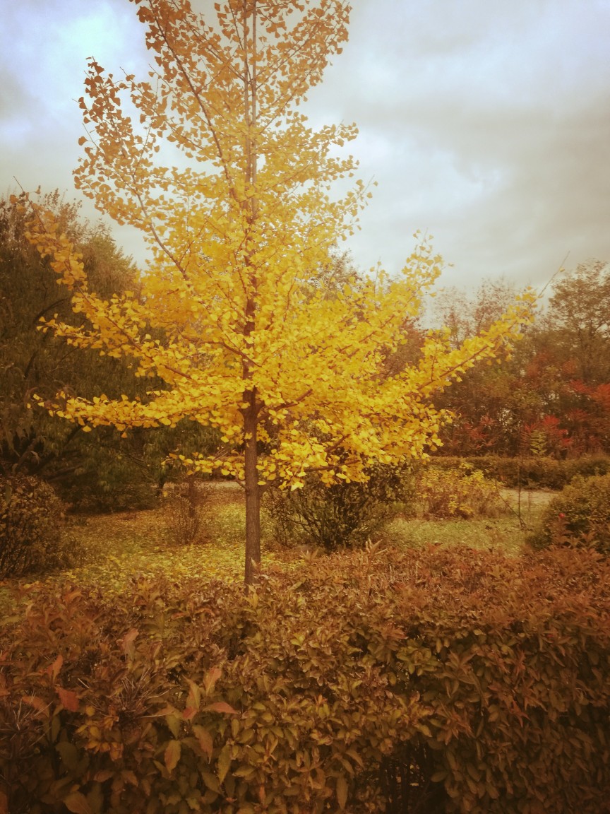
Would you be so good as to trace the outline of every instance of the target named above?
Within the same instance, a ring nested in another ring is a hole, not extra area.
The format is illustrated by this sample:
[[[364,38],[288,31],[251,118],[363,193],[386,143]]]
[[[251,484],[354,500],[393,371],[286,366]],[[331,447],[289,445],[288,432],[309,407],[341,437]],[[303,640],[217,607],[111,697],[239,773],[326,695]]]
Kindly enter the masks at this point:
[[[360,125],[363,175],[379,181],[354,241],[364,265],[397,268],[418,226],[462,282],[544,282],[568,251],[573,265],[610,256],[610,7],[437,0],[408,19],[380,5],[399,19],[376,29],[360,7],[355,81],[339,94],[334,68],[320,89],[326,116]]]

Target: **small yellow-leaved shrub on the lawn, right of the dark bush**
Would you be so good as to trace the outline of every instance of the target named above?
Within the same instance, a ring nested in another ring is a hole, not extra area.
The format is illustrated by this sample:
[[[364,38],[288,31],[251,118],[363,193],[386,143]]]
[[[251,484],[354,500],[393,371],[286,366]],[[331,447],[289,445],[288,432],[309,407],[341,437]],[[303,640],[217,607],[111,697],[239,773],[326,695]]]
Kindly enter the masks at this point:
[[[427,518],[495,517],[505,510],[497,484],[467,463],[459,469],[429,466],[417,483],[417,498]]]

